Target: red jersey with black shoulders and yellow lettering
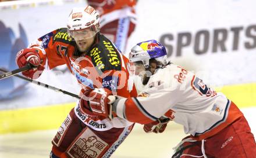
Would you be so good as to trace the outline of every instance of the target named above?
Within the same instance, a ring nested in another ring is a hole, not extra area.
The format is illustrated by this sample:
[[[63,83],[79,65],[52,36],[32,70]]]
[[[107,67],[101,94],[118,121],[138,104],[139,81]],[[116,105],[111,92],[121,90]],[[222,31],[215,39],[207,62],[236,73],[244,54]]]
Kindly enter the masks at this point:
[[[93,46],[87,52],[79,52],[76,42],[67,35],[66,28],[49,32],[30,47],[41,50],[42,64],[47,64],[50,69],[66,64],[84,89],[106,88],[123,97],[137,95],[135,86],[129,86],[128,83],[129,72],[126,63],[129,60],[102,34],[96,35]],[[120,118],[109,122],[100,116],[93,116],[93,113],[79,103],[74,111],[80,120],[95,130],[127,127],[131,124]],[[94,126],[95,124],[104,126]]]

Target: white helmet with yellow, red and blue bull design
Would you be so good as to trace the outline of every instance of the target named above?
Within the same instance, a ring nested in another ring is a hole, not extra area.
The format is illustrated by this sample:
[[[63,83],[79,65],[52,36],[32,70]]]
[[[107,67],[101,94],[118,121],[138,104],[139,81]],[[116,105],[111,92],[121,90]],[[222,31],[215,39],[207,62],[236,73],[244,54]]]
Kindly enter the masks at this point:
[[[131,52],[129,53],[130,63],[135,64],[141,61],[145,68],[150,66],[151,58],[165,65],[167,58],[165,46],[155,40],[144,41],[137,43],[136,46],[131,48]]]

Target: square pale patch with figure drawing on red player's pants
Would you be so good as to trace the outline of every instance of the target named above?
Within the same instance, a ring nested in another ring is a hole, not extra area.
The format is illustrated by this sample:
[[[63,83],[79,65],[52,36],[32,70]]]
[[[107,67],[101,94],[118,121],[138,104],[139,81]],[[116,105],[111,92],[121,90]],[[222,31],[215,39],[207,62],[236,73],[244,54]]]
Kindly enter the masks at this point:
[[[72,158],[98,158],[108,144],[93,133],[89,128],[85,128],[79,138],[67,150],[67,154]]]

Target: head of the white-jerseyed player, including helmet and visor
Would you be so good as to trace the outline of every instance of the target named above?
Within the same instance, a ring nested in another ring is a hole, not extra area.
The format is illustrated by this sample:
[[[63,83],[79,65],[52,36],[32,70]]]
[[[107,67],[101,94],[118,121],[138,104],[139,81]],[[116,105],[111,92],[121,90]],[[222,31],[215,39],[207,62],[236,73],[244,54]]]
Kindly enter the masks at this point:
[[[143,90],[156,69],[167,64],[166,58],[165,46],[155,40],[140,42],[131,48],[130,63],[127,64],[127,68],[129,74],[133,76],[137,91]],[[155,64],[151,65],[151,63]]]

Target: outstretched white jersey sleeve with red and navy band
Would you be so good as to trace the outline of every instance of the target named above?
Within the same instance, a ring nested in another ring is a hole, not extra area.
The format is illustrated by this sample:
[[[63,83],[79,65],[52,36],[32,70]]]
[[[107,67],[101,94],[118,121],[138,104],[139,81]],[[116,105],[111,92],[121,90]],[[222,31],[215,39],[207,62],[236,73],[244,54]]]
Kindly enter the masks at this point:
[[[118,98],[113,111],[119,117],[140,124],[154,122],[165,115],[177,102],[175,91],[156,90],[155,93],[142,93],[138,97]]]

